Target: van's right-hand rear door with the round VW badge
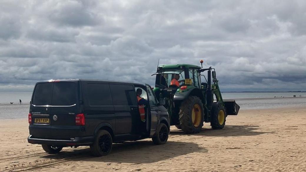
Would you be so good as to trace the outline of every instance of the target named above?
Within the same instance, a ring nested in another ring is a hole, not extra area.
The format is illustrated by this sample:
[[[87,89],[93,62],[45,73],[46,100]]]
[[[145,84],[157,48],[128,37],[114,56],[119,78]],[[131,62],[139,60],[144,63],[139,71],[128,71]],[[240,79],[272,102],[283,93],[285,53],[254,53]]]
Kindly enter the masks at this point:
[[[81,112],[78,103],[77,81],[54,82],[52,92],[51,138],[70,140],[80,132],[76,115]]]

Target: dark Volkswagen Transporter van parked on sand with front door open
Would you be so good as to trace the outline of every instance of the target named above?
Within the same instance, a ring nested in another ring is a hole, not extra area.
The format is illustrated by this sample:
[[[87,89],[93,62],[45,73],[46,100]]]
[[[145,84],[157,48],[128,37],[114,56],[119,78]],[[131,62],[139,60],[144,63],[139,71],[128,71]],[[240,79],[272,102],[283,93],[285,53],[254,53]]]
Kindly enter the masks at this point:
[[[147,100],[141,120],[137,89]],[[165,144],[170,131],[167,110],[148,84],[107,80],[47,80],[36,83],[28,114],[28,142],[55,154],[63,147],[90,146],[107,155],[112,143],[152,138]]]

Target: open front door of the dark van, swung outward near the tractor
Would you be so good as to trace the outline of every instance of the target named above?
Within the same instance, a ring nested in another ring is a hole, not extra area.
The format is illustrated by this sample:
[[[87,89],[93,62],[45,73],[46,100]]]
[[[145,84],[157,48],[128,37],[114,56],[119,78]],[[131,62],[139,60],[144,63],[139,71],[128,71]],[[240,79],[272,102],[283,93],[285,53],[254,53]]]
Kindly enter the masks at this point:
[[[157,129],[158,122],[159,122],[159,108],[158,108],[158,101],[155,97],[155,94],[153,93],[153,90],[149,84],[146,84],[147,88],[147,94],[148,94],[148,101],[149,101],[149,129],[150,129],[150,137],[152,137]],[[150,119],[151,119],[151,124],[150,124]]]

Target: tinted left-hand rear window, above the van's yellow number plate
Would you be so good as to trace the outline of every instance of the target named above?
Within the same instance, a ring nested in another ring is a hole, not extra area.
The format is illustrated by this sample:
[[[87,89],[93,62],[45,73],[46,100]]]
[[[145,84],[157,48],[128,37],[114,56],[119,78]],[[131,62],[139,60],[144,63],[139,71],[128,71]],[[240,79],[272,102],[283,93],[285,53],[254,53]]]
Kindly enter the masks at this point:
[[[37,84],[33,93],[32,104],[36,106],[51,105],[53,83]]]

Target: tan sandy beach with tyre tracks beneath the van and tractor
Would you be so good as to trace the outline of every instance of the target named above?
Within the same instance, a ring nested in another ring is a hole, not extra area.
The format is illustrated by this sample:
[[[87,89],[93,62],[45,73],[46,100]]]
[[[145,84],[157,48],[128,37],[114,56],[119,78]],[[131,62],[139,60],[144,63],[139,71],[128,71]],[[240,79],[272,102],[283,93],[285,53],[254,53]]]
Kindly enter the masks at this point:
[[[0,171],[306,171],[306,108],[241,110],[226,120],[193,135],[172,126],[165,145],[125,142],[92,157],[88,147],[48,155],[27,142],[27,119],[3,119]]]

